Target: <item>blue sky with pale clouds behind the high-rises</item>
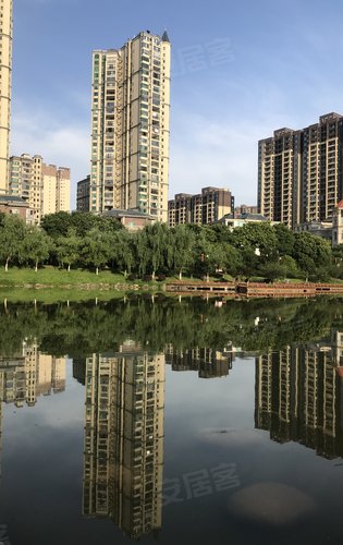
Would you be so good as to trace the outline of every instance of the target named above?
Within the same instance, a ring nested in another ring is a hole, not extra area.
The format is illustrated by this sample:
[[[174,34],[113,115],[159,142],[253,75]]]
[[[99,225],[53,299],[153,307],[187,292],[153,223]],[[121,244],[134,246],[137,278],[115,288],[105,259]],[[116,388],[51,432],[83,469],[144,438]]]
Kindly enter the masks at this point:
[[[343,113],[341,0],[13,0],[11,155],[89,173],[91,51],[172,44],[169,198],[257,201],[257,143]]]

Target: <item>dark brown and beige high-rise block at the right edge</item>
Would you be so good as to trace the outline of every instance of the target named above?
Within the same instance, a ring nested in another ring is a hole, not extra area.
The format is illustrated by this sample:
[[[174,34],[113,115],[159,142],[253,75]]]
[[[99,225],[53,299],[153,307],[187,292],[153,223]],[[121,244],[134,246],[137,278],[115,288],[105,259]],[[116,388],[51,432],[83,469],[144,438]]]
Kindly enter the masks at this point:
[[[328,113],[301,131],[258,143],[258,211],[290,228],[331,220],[343,196],[343,117]]]

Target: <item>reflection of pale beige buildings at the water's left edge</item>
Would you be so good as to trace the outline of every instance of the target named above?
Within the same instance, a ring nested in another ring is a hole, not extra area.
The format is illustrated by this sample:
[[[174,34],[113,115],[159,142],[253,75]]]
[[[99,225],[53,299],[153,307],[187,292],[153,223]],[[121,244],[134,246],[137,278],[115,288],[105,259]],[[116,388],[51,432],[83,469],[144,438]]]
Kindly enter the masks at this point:
[[[38,344],[23,343],[21,354],[0,358],[0,401],[28,407],[37,397],[65,389],[66,358],[39,352]]]

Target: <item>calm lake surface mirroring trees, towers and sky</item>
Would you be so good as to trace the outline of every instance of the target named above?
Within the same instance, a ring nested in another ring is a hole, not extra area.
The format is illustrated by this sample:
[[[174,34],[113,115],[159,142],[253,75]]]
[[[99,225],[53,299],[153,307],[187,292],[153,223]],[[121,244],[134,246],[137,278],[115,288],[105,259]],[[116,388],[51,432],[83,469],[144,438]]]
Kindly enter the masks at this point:
[[[342,542],[342,301],[220,304],[2,300],[0,542]]]

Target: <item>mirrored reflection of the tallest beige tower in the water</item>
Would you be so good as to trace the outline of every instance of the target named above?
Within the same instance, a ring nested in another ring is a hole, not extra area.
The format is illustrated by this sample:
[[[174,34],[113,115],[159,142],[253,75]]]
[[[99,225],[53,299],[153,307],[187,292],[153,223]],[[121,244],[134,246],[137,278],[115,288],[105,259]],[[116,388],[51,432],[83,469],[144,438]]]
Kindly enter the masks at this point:
[[[126,535],[161,528],[164,355],[130,341],[86,360],[83,513]]]

